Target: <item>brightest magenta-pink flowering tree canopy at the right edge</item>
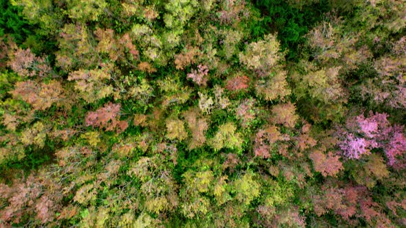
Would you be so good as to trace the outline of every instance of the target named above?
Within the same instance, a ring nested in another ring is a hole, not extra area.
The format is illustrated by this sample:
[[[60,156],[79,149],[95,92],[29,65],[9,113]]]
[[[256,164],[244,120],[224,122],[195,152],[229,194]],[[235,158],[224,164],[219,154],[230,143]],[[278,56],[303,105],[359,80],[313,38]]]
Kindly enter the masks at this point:
[[[345,129],[339,130],[341,141],[338,146],[349,159],[360,159],[374,148],[382,148],[389,166],[406,165],[406,137],[403,126],[392,126],[386,113],[370,113],[369,117],[359,115],[347,120]]]

